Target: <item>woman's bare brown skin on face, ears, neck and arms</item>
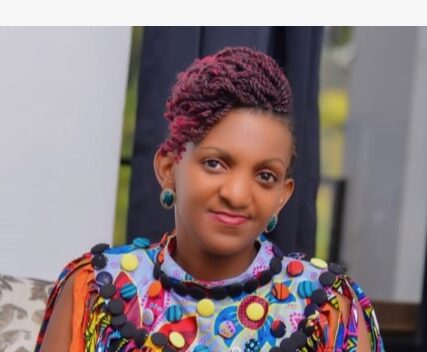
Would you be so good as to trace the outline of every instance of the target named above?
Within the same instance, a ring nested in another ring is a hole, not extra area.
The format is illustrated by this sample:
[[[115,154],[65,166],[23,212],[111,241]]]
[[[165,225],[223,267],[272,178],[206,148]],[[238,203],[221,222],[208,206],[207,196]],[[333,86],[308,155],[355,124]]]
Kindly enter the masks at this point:
[[[159,184],[176,192],[174,259],[184,270],[200,280],[221,280],[250,265],[256,254],[254,241],[292,195],[294,181],[286,177],[291,155],[286,123],[270,113],[248,109],[231,110],[200,143],[188,143],[179,161],[173,153],[156,153]],[[213,215],[218,211],[245,215],[247,221],[225,225]],[[67,280],[54,306],[43,352],[69,351],[75,275]],[[350,302],[338,299],[347,321]],[[338,319],[338,312],[334,314]],[[358,335],[357,351],[370,351],[363,319]]]

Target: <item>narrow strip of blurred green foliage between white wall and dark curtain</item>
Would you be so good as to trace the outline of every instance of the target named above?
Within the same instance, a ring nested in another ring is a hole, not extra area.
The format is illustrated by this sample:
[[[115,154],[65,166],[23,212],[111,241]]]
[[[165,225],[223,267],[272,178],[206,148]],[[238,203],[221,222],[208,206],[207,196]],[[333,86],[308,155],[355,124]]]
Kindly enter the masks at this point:
[[[121,149],[121,157],[128,159],[132,157],[133,153],[133,141],[138,102],[137,86],[142,39],[143,28],[133,27]],[[126,224],[129,205],[130,178],[130,165],[121,164],[118,178],[116,196],[116,216],[114,222],[113,244],[115,246],[124,244],[126,242]]]

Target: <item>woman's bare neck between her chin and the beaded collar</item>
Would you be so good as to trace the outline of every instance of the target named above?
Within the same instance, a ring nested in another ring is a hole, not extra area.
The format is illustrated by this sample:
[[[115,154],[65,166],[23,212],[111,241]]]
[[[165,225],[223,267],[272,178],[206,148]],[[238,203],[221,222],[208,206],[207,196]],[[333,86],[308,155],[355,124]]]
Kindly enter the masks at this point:
[[[243,273],[254,260],[255,245],[241,251],[238,255],[218,256],[198,248],[194,243],[176,238],[173,259],[188,274],[200,281],[226,280]]]

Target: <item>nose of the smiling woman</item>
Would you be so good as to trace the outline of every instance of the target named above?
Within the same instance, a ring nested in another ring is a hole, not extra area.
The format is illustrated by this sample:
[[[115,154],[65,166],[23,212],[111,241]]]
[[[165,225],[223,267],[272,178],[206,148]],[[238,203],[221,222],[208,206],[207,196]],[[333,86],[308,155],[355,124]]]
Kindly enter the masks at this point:
[[[242,173],[229,174],[221,185],[219,195],[234,209],[246,208],[252,199],[251,180]]]

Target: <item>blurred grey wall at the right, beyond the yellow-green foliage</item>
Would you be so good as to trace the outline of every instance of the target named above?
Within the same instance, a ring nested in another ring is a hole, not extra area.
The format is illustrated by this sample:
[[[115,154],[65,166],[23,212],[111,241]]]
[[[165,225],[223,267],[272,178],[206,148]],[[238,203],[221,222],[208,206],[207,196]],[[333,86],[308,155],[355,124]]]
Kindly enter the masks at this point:
[[[375,299],[419,302],[427,234],[427,29],[356,28],[341,257]]]

